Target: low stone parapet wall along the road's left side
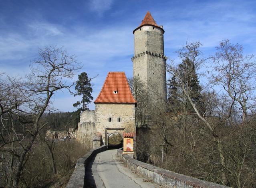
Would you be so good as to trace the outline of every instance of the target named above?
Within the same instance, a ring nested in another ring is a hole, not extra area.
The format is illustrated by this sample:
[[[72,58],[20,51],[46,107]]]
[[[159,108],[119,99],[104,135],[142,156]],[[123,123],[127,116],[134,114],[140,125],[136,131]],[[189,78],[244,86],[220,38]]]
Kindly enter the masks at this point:
[[[107,150],[107,146],[100,146],[99,148],[90,150],[83,157],[79,158],[66,188],[83,188],[85,184],[85,165],[93,156],[105,150]]]

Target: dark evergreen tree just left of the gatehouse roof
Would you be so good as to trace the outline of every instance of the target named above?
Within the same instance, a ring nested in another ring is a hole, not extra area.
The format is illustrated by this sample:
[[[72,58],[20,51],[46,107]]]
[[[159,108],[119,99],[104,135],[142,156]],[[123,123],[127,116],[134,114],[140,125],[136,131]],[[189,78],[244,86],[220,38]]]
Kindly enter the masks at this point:
[[[77,92],[74,94],[74,96],[82,95],[83,98],[81,101],[77,101],[75,104],[73,104],[73,106],[78,107],[82,105],[81,110],[87,110],[87,104],[93,100],[93,97],[91,96],[93,88],[91,87],[91,78],[88,78],[86,72],[79,74],[75,90],[77,90]]]

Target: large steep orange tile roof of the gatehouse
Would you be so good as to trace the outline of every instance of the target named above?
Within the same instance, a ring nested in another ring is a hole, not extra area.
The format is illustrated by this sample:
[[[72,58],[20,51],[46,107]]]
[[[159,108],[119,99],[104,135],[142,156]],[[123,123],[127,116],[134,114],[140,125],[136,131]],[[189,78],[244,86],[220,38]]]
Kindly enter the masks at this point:
[[[114,93],[117,91],[117,93]],[[109,72],[94,103],[136,103],[124,72]]]

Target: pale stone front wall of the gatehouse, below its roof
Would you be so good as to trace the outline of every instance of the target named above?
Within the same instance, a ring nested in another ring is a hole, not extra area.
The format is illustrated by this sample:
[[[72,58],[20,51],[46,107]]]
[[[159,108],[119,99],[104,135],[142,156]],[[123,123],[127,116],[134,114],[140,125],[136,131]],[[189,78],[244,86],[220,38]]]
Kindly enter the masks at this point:
[[[135,104],[96,104],[96,132],[101,132],[103,143],[106,142],[106,128],[124,128],[124,130],[109,130],[113,132],[136,132]],[[111,118],[111,122],[108,121]],[[118,122],[121,118],[121,122]],[[108,136],[108,135],[107,135]]]

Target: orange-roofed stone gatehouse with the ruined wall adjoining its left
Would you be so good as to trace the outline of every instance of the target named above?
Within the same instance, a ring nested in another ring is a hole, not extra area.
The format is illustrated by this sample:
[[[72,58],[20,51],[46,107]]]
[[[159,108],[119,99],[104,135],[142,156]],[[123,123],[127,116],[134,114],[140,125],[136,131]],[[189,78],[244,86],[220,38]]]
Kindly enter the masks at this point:
[[[81,113],[77,139],[93,141],[93,147],[108,145],[110,134],[136,132],[135,105],[124,72],[109,72],[99,96],[94,101],[95,110]]]

